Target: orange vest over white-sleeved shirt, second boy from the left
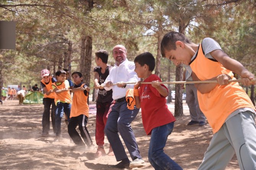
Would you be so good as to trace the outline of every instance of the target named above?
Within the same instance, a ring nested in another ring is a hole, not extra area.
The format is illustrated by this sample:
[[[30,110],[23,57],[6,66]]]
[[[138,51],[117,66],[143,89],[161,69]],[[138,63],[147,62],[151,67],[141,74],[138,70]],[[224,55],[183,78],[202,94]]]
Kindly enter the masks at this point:
[[[65,80],[67,81],[67,80]],[[62,82],[62,84],[58,85],[56,84],[57,82],[54,82],[52,83],[53,86],[55,86],[58,90],[62,90],[62,89],[65,89],[65,83]],[[60,94],[55,94],[55,99],[54,99],[54,102],[55,104],[57,105],[57,102],[60,101],[60,102],[63,102],[63,103],[72,103],[72,99],[71,99],[71,95],[70,95],[70,92],[69,91],[65,91],[65,92],[62,92]]]

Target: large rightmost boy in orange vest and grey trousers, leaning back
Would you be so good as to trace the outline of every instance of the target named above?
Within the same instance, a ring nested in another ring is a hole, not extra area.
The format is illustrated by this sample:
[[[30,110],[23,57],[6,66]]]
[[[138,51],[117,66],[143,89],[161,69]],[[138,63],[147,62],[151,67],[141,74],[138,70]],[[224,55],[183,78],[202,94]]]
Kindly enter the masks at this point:
[[[225,169],[236,153],[240,169],[256,169],[255,107],[235,79],[243,85],[255,84],[254,75],[240,62],[231,59],[211,38],[194,44],[178,32],[165,34],[161,42],[162,56],[175,65],[190,65],[193,80],[217,80],[218,83],[195,84],[198,102],[213,130],[213,137],[199,170]]]

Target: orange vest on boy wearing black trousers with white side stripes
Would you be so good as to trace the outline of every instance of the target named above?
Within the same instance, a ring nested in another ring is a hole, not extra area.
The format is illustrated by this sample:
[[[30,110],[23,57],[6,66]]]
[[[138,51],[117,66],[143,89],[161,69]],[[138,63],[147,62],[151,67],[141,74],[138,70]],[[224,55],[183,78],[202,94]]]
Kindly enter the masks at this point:
[[[82,84],[80,87],[83,87]],[[83,91],[74,92],[71,106],[70,118],[84,114],[89,118],[89,106],[87,104],[88,96],[84,95]]]

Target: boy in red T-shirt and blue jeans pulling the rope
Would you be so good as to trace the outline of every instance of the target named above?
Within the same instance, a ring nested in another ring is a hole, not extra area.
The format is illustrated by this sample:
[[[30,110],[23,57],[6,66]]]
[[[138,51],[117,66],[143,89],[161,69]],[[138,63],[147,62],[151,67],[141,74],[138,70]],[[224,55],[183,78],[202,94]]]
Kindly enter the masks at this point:
[[[167,137],[172,133],[176,120],[166,105],[167,87],[158,84],[157,82],[161,82],[160,78],[152,74],[156,65],[155,58],[150,52],[144,52],[135,57],[134,63],[134,71],[138,77],[143,78],[144,82],[152,82],[152,84],[140,84],[139,81],[134,85],[136,107],[141,108],[144,130],[147,135],[151,135],[149,162],[155,169],[182,170],[164,153]]]

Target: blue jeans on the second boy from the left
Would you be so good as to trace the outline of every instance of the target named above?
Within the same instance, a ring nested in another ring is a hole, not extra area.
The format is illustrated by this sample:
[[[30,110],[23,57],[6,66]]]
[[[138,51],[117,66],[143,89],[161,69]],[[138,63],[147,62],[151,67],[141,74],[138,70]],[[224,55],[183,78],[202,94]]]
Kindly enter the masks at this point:
[[[60,127],[61,127],[61,122],[62,122],[62,117],[63,117],[64,111],[65,111],[66,116],[68,117],[68,122],[69,122],[71,104],[70,103],[58,102],[57,106],[56,106],[56,111],[55,111],[55,132],[56,132],[56,136],[59,136],[60,132],[61,132]]]

